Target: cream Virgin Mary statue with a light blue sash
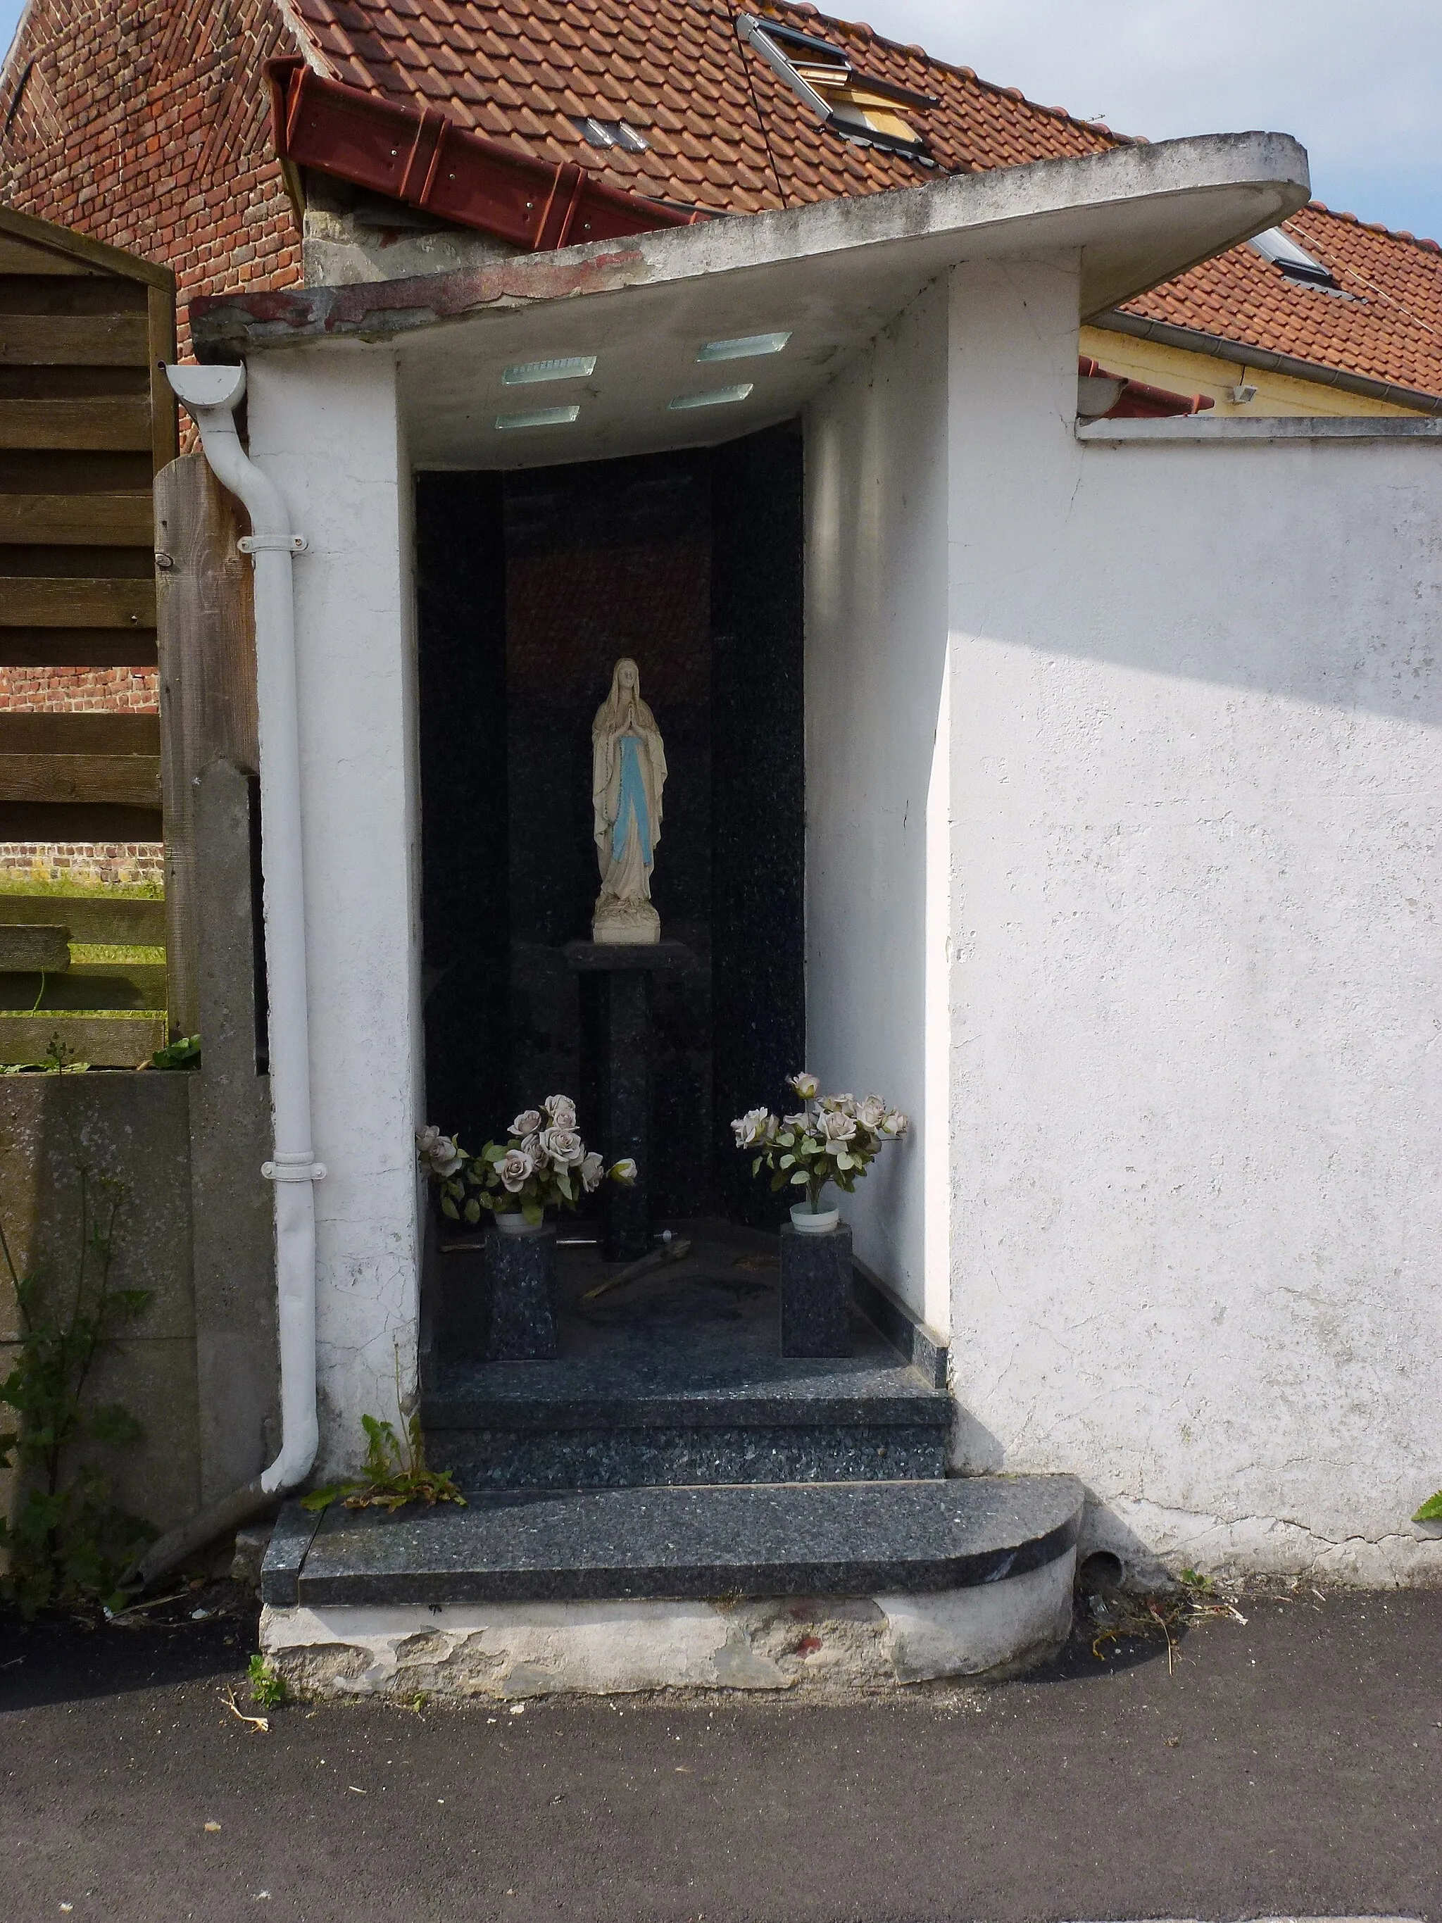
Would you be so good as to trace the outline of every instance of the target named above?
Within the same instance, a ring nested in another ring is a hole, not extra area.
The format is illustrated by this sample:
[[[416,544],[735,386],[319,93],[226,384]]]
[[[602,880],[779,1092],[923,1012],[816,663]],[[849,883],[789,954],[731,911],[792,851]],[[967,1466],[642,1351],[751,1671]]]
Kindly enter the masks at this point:
[[[590,725],[590,800],[602,892],[590,935],[596,942],[659,942],[661,917],[652,908],[652,863],[661,838],[665,748],[656,715],[640,698],[640,673],[629,658],[611,673],[611,692]]]

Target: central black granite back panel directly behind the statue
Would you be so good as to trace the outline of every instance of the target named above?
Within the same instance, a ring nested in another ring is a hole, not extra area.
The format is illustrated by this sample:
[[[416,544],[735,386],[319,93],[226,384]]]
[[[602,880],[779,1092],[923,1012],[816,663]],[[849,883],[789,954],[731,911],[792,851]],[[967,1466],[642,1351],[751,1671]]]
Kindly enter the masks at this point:
[[[669,777],[652,898],[698,965],[654,985],[650,1194],[711,1206],[711,515],[709,460],[533,469],[506,483],[511,792],[511,1058],[517,1102],[583,1096],[579,992],[561,944],[590,935],[600,883],[590,723],[629,654]],[[583,1133],[596,1121],[581,1115]]]

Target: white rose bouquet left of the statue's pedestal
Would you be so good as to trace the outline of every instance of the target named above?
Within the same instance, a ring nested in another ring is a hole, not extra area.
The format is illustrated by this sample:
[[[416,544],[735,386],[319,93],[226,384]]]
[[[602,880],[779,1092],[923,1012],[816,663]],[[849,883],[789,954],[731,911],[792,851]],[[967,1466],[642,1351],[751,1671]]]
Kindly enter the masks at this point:
[[[577,1135],[575,1102],[565,1094],[521,1110],[506,1140],[486,1142],[479,1156],[467,1156],[436,1127],[415,1131],[415,1154],[440,1188],[440,1213],[450,1221],[477,1223],[488,1210],[538,1223],[548,1208],[575,1210],[581,1196],[594,1194],[604,1181],[636,1179],[629,1156],[608,1169],[606,1160],[586,1148]]]

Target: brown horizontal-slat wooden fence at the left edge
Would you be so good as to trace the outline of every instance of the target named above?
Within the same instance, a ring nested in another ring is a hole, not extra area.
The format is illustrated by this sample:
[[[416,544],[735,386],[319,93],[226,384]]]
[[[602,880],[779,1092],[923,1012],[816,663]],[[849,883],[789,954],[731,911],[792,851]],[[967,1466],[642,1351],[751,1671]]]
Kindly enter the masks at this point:
[[[156,665],[173,358],[165,267],[0,208],[0,665]],[[0,713],[0,840],[160,842],[162,763],[158,715]],[[37,1060],[54,1035],[98,1065],[146,1060],[165,969],[71,965],[69,944],[154,950],[163,921],[150,902],[0,894],[0,1061]]]

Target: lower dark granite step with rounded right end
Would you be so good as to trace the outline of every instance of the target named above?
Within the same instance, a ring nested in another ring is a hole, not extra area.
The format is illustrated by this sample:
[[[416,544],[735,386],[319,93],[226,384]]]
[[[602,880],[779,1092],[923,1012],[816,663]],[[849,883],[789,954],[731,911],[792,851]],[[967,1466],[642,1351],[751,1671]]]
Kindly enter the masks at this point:
[[[467,1508],[288,1504],[271,1608],[871,1596],[1025,1575],[1077,1542],[1065,1475],[729,1488],[513,1490]]]

